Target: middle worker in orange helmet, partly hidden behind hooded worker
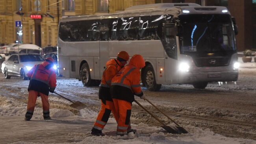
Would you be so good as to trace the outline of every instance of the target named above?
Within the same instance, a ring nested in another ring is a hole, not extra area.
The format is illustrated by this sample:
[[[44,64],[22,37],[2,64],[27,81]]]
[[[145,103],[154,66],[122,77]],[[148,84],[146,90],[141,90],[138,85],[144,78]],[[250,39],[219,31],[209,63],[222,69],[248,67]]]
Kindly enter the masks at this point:
[[[121,51],[117,54],[117,59],[110,59],[106,63],[106,69],[102,74],[102,79],[99,89],[99,99],[101,99],[101,110],[98,114],[96,122],[91,130],[92,135],[104,135],[102,130],[108,122],[109,115],[112,111],[115,119],[117,120],[117,113],[114,110],[114,103],[111,98],[109,89],[111,85],[111,79],[119,72],[119,70],[126,65],[129,60],[129,54],[125,51]]]

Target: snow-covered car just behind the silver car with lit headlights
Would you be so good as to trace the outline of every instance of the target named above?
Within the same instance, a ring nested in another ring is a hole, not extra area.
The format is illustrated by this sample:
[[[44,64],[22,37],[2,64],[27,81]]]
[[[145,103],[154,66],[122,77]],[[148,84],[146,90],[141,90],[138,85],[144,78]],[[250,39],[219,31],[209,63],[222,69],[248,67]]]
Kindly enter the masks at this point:
[[[19,54],[41,54],[42,48],[33,44],[23,44],[19,46],[19,49],[10,50],[9,53]]]

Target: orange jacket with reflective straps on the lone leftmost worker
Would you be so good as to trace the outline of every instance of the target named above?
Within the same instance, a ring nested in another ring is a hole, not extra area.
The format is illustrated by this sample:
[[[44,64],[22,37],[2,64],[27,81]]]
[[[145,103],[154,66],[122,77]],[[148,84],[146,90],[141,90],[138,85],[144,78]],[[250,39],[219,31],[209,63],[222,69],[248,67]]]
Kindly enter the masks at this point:
[[[27,74],[30,79],[28,91],[35,90],[45,95],[49,95],[49,91],[53,92],[56,88],[56,74],[54,71],[47,61],[35,65]]]

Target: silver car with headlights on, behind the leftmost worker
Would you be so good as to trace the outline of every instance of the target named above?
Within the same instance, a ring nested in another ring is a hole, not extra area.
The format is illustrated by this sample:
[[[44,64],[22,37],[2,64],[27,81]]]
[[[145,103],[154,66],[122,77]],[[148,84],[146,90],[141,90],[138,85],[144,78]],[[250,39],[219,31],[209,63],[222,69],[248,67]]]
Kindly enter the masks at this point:
[[[2,63],[1,70],[5,79],[9,79],[11,76],[20,76],[22,80],[25,80],[28,71],[43,61],[40,54],[12,54]]]

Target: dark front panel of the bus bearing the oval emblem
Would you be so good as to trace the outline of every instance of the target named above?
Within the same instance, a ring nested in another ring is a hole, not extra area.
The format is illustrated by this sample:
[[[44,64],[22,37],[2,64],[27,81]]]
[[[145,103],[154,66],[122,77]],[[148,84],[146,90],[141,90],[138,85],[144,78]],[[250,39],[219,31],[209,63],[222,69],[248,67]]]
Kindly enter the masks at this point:
[[[220,67],[227,66],[230,58],[211,57],[211,58],[195,58],[195,65],[198,67]]]

